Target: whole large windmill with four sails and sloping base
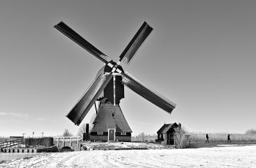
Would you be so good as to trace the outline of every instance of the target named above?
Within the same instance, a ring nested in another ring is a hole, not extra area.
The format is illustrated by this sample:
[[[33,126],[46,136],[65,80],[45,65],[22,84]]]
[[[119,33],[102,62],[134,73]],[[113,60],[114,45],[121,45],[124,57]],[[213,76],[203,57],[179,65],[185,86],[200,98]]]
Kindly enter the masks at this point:
[[[121,61],[127,65],[131,62],[140,46],[152,32],[153,29],[147,22],[141,25],[138,32],[136,32],[124,49],[124,52],[119,56],[118,62],[110,60],[106,54],[100,52],[100,50],[82,38],[64,22],[61,21],[59,24],[54,25],[54,28],[104,63],[104,66],[97,73],[95,80],[93,80],[92,85],[90,85],[81,99],[77,101],[76,105],[67,114],[67,118],[75,123],[75,125],[79,125],[93,104],[95,104],[95,101],[100,101],[99,109],[96,109],[97,116],[91,131],[91,140],[115,141],[118,139],[120,141],[131,141],[132,131],[119,106],[120,99],[124,98],[124,86],[167,113],[172,113],[176,106],[175,103],[148,87],[138,78],[132,76],[131,73],[124,72],[124,69],[120,66]]]

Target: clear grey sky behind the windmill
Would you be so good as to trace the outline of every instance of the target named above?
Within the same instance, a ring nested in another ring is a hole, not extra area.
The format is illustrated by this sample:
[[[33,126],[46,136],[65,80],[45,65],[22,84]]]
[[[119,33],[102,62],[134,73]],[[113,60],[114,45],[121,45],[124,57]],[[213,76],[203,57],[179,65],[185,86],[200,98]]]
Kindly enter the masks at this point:
[[[56,136],[102,62],[54,29],[63,20],[113,60],[144,21],[154,31],[129,66],[177,104],[169,115],[125,88],[133,135],[255,129],[256,1],[1,1],[0,136]],[[92,108],[82,123],[95,113]]]

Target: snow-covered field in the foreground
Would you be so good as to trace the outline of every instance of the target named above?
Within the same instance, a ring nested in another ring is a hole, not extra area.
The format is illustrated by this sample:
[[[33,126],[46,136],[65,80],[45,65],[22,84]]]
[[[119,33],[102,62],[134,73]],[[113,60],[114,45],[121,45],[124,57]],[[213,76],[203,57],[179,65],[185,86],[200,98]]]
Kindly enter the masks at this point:
[[[6,161],[0,167],[256,167],[256,145],[45,153]]]

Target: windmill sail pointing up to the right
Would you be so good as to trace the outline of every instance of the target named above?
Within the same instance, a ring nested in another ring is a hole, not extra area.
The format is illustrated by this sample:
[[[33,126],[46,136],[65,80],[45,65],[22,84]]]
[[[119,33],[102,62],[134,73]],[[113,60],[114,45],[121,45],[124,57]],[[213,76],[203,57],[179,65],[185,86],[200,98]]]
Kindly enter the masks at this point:
[[[120,55],[120,60],[123,59],[125,64],[129,64],[131,62],[132,57],[136,54],[140,46],[144,43],[145,39],[147,39],[150,32],[152,32],[153,28],[144,22],[138,32],[134,35],[130,43],[124,49],[124,52]]]

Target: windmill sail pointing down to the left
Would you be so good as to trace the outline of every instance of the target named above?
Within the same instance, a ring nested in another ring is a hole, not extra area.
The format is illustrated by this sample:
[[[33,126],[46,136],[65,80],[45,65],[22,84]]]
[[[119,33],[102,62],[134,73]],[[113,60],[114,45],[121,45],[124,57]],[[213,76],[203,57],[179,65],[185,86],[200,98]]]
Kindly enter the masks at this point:
[[[95,78],[92,85],[86,90],[74,108],[72,108],[71,111],[66,115],[67,118],[69,118],[76,125],[79,125],[84,116],[86,116],[88,111],[92,108],[94,102],[102,93],[106,85],[108,85],[109,81],[113,78],[111,74],[112,72],[108,75],[108,77],[106,77],[104,76],[103,71],[102,73],[99,73],[97,78]]]

